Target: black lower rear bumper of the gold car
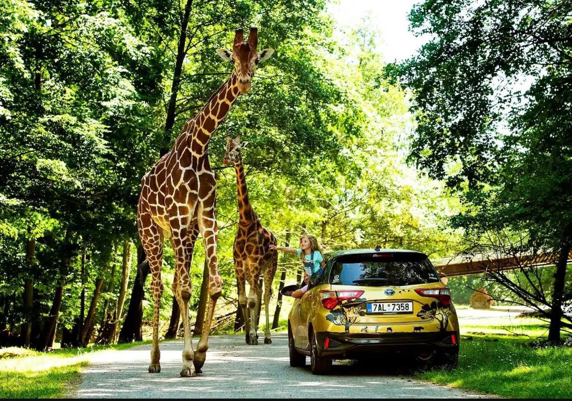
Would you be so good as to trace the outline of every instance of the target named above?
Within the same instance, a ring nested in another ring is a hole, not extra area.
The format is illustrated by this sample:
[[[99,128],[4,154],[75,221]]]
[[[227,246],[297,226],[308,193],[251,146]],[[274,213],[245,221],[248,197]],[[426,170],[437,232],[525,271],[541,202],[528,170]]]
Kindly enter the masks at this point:
[[[456,344],[453,344],[451,335],[455,336]],[[329,344],[324,348],[326,338],[329,338]],[[333,359],[391,353],[418,355],[422,351],[454,351],[459,348],[459,333],[452,331],[368,334],[317,332],[316,340],[319,354]]]

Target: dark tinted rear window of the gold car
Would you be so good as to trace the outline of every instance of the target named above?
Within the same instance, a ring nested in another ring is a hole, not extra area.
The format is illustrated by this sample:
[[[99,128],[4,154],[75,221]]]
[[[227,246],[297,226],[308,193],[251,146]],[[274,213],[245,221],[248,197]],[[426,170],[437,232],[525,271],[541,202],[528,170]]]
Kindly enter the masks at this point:
[[[438,281],[435,268],[421,253],[340,256],[329,274],[331,284],[342,285],[414,285]]]

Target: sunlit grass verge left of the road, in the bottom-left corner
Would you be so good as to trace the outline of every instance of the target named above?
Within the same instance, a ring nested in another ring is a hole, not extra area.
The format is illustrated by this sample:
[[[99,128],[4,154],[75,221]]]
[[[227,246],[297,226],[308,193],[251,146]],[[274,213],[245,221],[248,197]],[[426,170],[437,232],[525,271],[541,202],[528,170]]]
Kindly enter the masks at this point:
[[[37,352],[0,348],[0,398],[62,398],[80,380],[94,352],[124,350],[149,342]]]

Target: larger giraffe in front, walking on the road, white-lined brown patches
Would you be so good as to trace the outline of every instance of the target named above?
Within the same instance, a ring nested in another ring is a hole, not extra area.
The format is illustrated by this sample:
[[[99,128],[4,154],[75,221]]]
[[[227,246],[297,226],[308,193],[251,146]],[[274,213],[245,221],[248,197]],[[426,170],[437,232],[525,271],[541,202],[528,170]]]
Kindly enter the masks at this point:
[[[176,260],[173,293],[181,308],[185,329],[181,376],[201,373],[208,350],[210,324],[222,281],[217,265],[217,223],[215,217],[215,176],[210,170],[207,148],[215,132],[239,94],[251,89],[256,65],[268,59],[272,49],[257,51],[257,30],[251,28],[244,42],[243,30],[235,32],[233,50],[217,49],[221,58],[234,63],[231,77],[210,97],[196,116],[185,122],[169,153],[162,156],[141,180],[137,226],[152,274],[154,299],[153,346],[149,372],[161,371],[159,363],[159,305],[163,293],[161,265],[163,239],[170,239]],[[189,269],[194,241],[202,235],[209,267],[209,306],[202,335],[193,351],[189,323],[192,294]]]

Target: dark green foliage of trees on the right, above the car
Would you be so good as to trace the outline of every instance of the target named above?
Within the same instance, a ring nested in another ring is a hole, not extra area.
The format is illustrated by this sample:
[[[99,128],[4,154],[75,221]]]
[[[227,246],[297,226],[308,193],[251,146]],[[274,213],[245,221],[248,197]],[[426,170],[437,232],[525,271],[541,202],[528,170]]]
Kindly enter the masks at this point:
[[[451,226],[481,253],[562,256],[553,288],[514,291],[553,308],[554,325],[571,301],[571,12],[569,3],[547,0],[425,1],[410,21],[429,41],[388,68],[414,97],[410,161],[461,194]]]

